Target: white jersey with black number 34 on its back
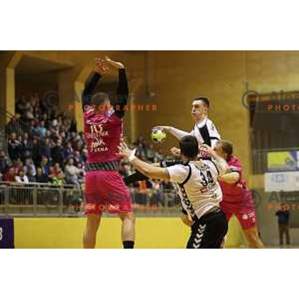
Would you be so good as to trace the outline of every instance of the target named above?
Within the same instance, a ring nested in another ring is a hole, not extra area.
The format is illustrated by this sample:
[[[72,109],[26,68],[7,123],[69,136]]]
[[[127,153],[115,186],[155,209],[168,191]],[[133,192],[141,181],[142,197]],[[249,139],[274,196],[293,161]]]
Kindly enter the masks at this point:
[[[219,206],[222,191],[218,176],[225,173],[226,167],[225,160],[212,158],[166,168],[170,181],[177,183],[183,209],[193,220],[199,219],[211,208]]]

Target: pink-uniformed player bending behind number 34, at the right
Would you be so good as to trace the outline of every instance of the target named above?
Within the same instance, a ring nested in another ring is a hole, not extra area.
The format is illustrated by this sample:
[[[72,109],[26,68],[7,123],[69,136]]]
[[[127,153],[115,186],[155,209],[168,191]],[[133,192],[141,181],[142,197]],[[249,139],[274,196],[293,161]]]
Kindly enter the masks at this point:
[[[247,192],[242,166],[239,159],[233,155],[233,146],[230,142],[221,140],[216,143],[214,150],[227,161],[230,168],[230,172],[219,178],[223,194],[220,207],[227,221],[232,215],[238,218],[251,248],[263,248],[256,227],[256,214],[251,202],[251,193]]]

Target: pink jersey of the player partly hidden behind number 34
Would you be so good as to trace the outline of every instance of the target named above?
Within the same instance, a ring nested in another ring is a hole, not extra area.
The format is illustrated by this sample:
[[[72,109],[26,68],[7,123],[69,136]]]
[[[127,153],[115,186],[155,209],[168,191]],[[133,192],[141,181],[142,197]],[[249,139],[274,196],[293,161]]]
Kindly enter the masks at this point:
[[[248,190],[246,181],[242,176],[242,166],[239,159],[236,156],[232,156],[229,161],[227,161],[231,171],[236,171],[240,174],[240,178],[235,184],[228,184],[223,181],[219,181],[223,199],[222,202],[242,202],[243,194]]]

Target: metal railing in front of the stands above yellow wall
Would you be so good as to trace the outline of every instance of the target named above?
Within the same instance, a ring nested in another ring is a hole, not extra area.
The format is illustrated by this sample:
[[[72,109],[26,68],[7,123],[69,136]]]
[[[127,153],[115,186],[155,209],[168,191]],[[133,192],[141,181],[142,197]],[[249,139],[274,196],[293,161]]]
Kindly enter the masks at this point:
[[[176,190],[131,189],[139,217],[171,217],[180,212]],[[74,185],[0,182],[0,217],[83,217],[84,191]],[[110,215],[104,213],[104,216]]]

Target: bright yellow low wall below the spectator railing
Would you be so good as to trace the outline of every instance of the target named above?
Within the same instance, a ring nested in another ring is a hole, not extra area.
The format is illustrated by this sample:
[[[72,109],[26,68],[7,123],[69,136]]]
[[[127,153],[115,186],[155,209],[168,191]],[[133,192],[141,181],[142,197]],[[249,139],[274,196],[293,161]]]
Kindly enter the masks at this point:
[[[82,248],[83,218],[15,218],[15,248]],[[232,222],[227,246],[242,242],[238,223]],[[122,248],[121,221],[103,218],[97,248]],[[185,248],[189,229],[178,218],[137,218],[136,248]]]

